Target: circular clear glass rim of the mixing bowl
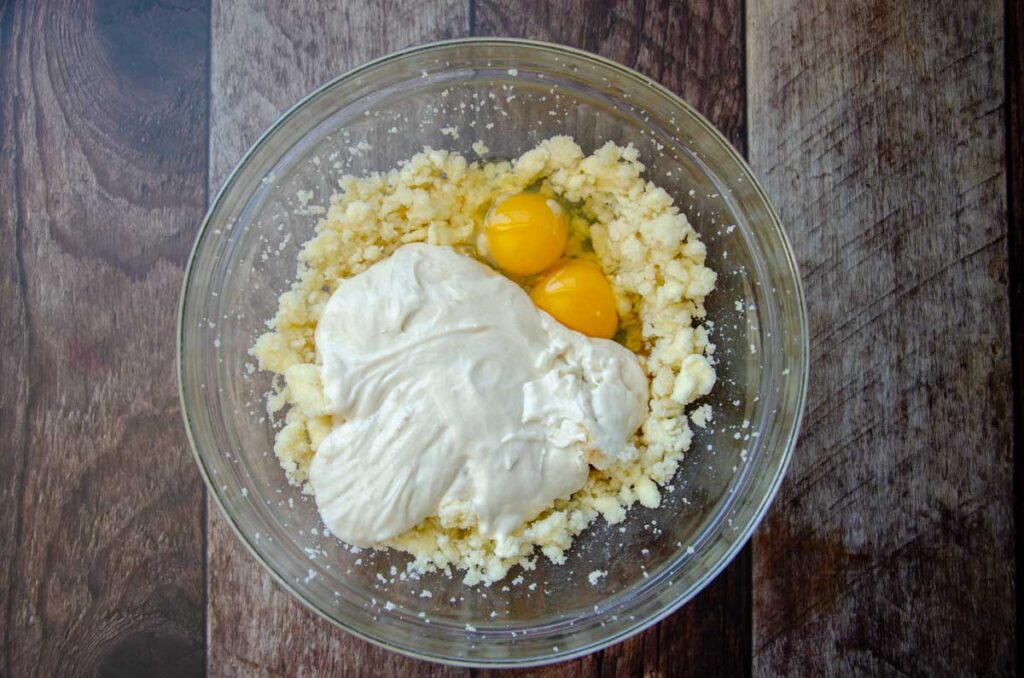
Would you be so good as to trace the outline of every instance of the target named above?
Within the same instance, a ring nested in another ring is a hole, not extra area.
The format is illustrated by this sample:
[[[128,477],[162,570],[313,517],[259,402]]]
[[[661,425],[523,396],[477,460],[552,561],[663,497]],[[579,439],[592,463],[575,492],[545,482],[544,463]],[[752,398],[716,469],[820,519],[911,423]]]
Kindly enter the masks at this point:
[[[794,274],[794,295],[796,296],[796,303],[798,309],[798,324],[799,324],[799,354],[796,355],[796,363],[801,367],[800,381],[797,385],[797,400],[796,400],[796,412],[793,417],[790,430],[784,433],[785,435],[785,449],[782,452],[782,457],[775,471],[774,477],[771,479],[768,485],[767,492],[763,495],[757,510],[754,513],[752,520],[748,525],[738,534],[738,537],[733,539],[728,549],[726,550],[724,556],[701,578],[701,580],[693,586],[689,591],[680,595],[674,601],[666,604],[656,613],[651,615],[647,618],[637,620],[631,625],[624,627],[622,631],[615,633],[611,636],[603,638],[599,641],[592,642],[575,649],[566,651],[551,652],[548,654],[539,654],[534,658],[524,658],[521,660],[515,659],[498,659],[498,660],[483,660],[483,661],[473,661],[465,660],[452,655],[441,655],[428,652],[419,652],[407,647],[397,646],[391,644],[385,640],[373,637],[358,629],[348,626],[344,622],[341,622],[325,610],[321,609],[314,605],[311,601],[307,600],[299,591],[294,589],[291,584],[280,575],[269,562],[267,562],[255,549],[253,544],[250,543],[249,539],[245,536],[242,529],[239,527],[231,513],[228,511],[226,505],[222,501],[220,495],[216,491],[213,479],[210,476],[210,472],[207,469],[203,457],[199,451],[199,444],[197,443],[196,436],[193,432],[193,426],[188,416],[188,404],[185,396],[184,389],[184,362],[182,361],[182,346],[184,340],[184,311],[185,302],[188,297],[188,291],[190,288],[191,278],[197,256],[199,254],[200,248],[202,247],[206,236],[210,230],[210,224],[213,219],[214,214],[220,207],[221,202],[227,193],[233,187],[239,174],[242,169],[249,164],[250,160],[256,152],[260,150],[267,139],[283,125],[285,125],[294,115],[296,115],[300,110],[302,110],[307,103],[318,97],[322,93],[331,89],[345,81],[352,80],[369,71],[376,69],[384,63],[398,60],[408,57],[413,54],[418,54],[422,52],[430,52],[435,50],[443,50],[452,47],[463,46],[467,44],[475,45],[495,45],[495,46],[513,46],[513,47],[526,47],[531,49],[538,49],[548,52],[563,53],[568,54],[573,57],[589,60],[595,62],[599,66],[609,68],[613,71],[618,72],[622,76],[636,81],[641,85],[644,85],[652,89],[655,93],[660,96],[668,98],[672,103],[678,105],[685,110],[687,114],[691,115],[694,120],[696,120],[700,125],[703,126],[708,134],[710,134],[715,140],[717,140],[725,152],[746,174],[751,180],[751,184],[754,186],[757,197],[760,199],[762,204],[766,208],[771,225],[777,236],[780,239],[782,250],[785,255],[785,261],[790,266]],[[616,643],[623,642],[624,640],[642,632],[650,627],[654,626],[665,618],[669,617],[680,607],[685,605],[687,602],[692,600],[699,594],[712,581],[718,578],[719,575],[735,559],[736,555],[746,546],[751,541],[751,537],[757,527],[764,520],[768,509],[771,507],[775,496],[778,494],[779,488],[785,477],[786,470],[788,469],[790,463],[793,459],[794,450],[797,444],[797,440],[800,435],[800,431],[803,425],[803,419],[806,411],[807,401],[807,390],[810,380],[810,338],[809,338],[809,328],[808,328],[808,316],[807,316],[807,303],[804,295],[804,287],[802,277],[800,274],[800,267],[798,265],[796,256],[794,254],[793,245],[790,242],[785,229],[782,227],[781,220],[779,219],[778,213],[775,206],[772,204],[761,182],[758,180],[754,171],[751,169],[746,160],[740,155],[732,143],[718,130],[715,125],[713,125],[702,114],[700,114],[692,104],[683,99],[681,96],[665,87],[660,83],[656,82],[652,78],[649,78],[638,71],[631,69],[623,63],[614,61],[612,59],[600,56],[593,52],[589,52],[584,49],[579,49],[575,47],[569,47],[566,45],[561,45],[552,42],[546,42],[541,40],[528,40],[522,38],[490,38],[490,37],[466,37],[466,38],[454,38],[449,40],[439,40],[434,42],[423,43],[420,45],[414,45],[399,49],[393,52],[389,52],[382,56],[378,56],[371,59],[360,66],[352,68],[331,80],[321,84],[319,86],[312,89],[310,92],[305,94],[296,103],[290,107],[284,114],[282,114],[274,122],[267,127],[267,129],[262,132],[256,141],[246,151],[242,158],[236,163],[231,170],[225,176],[222,185],[214,195],[213,199],[210,201],[209,207],[206,214],[200,223],[199,230],[196,234],[195,242],[193,244],[191,250],[188,253],[188,260],[185,265],[182,282],[181,282],[181,293],[178,300],[178,312],[177,312],[177,328],[175,336],[175,374],[178,381],[178,400],[181,406],[181,417],[184,423],[185,434],[188,438],[188,446],[191,451],[193,458],[196,460],[196,464],[199,467],[200,474],[203,477],[205,484],[204,490],[208,498],[212,498],[213,502],[217,505],[220,510],[221,515],[226,520],[227,524],[230,526],[231,531],[234,533],[239,541],[245,546],[246,550],[250,555],[267,571],[270,577],[281,586],[288,594],[307,609],[314,612],[317,617],[326,620],[335,627],[349,633],[360,640],[365,640],[373,645],[381,647],[386,650],[397,652],[404,656],[411,659],[433,662],[436,664],[442,664],[447,666],[455,666],[461,668],[529,668],[546,666],[550,664],[555,664],[559,662],[567,662],[570,660],[579,659],[581,656],[586,656],[593,652],[602,650],[606,647],[610,647]],[[206,525],[204,525],[206,528]],[[208,558],[206,540],[204,540],[204,558]],[[209,605],[209,601],[207,601]]]

